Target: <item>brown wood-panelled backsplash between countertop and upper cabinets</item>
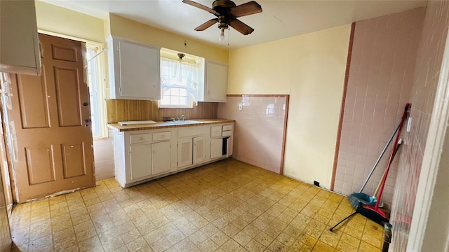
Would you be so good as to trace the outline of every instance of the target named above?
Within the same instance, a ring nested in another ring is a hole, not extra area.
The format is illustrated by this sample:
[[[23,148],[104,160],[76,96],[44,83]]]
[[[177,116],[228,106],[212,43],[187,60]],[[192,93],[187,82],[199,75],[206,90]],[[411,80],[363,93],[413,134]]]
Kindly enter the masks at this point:
[[[199,102],[193,109],[159,109],[157,101],[126,99],[106,100],[107,123],[130,120],[161,121],[163,116],[178,118],[185,115],[189,119],[217,118],[216,102]]]

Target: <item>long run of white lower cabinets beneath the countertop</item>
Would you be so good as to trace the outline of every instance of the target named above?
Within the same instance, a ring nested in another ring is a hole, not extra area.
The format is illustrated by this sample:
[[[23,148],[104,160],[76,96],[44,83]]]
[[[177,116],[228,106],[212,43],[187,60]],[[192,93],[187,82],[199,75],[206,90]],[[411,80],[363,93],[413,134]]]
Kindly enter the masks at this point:
[[[115,179],[129,187],[227,158],[232,130],[224,124],[114,132]]]

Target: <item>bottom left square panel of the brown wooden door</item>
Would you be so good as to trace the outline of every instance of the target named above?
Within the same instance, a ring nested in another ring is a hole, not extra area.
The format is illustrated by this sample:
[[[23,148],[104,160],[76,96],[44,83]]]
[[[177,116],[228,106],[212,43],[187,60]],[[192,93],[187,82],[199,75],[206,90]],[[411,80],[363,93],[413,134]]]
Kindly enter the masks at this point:
[[[53,146],[25,148],[29,185],[55,181]]]

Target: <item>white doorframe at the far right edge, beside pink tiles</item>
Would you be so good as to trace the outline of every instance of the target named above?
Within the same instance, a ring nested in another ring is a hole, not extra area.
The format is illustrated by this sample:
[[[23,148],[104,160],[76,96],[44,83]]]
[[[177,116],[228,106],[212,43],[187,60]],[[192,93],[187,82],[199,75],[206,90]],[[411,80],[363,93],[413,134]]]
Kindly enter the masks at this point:
[[[420,182],[416,192],[416,202],[413,209],[413,218],[410,225],[406,251],[422,251],[429,248],[438,251],[448,251],[449,238],[438,239],[435,234],[441,230],[449,230],[448,216],[441,209],[441,197],[434,197],[441,186],[449,186],[444,172],[448,169],[445,162],[441,163],[442,155],[449,155],[449,150],[443,148],[449,144],[445,141],[449,122],[449,33],[446,35],[440,76],[436,87],[434,107],[432,109],[429,133],[422,159]],[[446,172],[447,174],[447,172]],[[436,184],[438,183],[438,188]],[[443,185],[441,185],[443,183]],[[449,202],[445,197],[445,203]],[[440,219],[438,215],[445,218]],[[433,238],[432,238],[433,237]]]

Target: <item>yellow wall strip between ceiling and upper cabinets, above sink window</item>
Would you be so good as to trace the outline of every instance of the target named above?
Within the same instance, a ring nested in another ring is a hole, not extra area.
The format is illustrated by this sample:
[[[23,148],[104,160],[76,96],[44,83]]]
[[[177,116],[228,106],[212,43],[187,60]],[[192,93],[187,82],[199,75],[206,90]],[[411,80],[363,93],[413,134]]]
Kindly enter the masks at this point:
[[[228,62],[228,51],[213,45],[194,41],[185,36],[173,34],[169,31],[163,31],[133,20],[128,20],[119,15],[110,14],[109,20],[109,33],[113,36],[128,38],[149,45],[157,45],[219,62]],[[108,29],[108,27],[106,27],[106,29]],[[187,43],[187,45],[185,45],[185,43]]]

